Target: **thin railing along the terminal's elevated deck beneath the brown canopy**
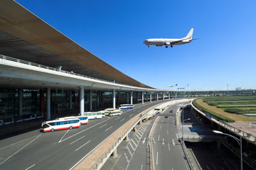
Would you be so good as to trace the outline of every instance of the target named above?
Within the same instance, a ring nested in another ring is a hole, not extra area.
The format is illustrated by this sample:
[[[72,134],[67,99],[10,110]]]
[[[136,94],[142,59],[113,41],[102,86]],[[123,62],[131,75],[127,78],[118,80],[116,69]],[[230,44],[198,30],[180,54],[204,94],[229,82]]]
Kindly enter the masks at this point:
[[[68,72],[68,71],[65,71],[65,70],[62,70],[62,69],[57,69],[57,68],[48,67],[48,66],[45,66],[45,65],[42,65],[42,64],[36,64],[36,63],[33,63],[33,62],[28,62],[28,61],[25,61],[25,60],[16,59],[16,58],[13,58],[13,57],[8,57],[6,55],[0,55],[0,59],[9,60],[9,61],[12,61],[12,62],[19,62],[19,63],[22,63],[22,64],[28,64],[28,65],[31,65],[31,66],[34,66],[34,67],[40,67],[40,68],[43,68],[43,69],[49,69],[49,70],[53,70],[53,71],[56,71],[56,72],[63,72],[63,73],[72,74],[72,75],[75,75],[75,76],[78,76],[78,77],[85,77],[87,79],[93,79],[93,80],[97,80],[97,81],[104,81],[104,82],[107,82],[107,83],[118,85],[118,83],[115,83],[114,81],[107,81],[107,80],[104,80],[104,79],[97,79],[95,77],[89,77],[89,76],[85,76],[85,75],[82,75],[82,74],[77,74],[77,73],[74,73],[74,72]],[[126,84],[119,84],[119,85],[124,86]],[[128,86],[133,87],[133,88],[137,88],[136,86],[131,86],[131,85],[128,85]]]

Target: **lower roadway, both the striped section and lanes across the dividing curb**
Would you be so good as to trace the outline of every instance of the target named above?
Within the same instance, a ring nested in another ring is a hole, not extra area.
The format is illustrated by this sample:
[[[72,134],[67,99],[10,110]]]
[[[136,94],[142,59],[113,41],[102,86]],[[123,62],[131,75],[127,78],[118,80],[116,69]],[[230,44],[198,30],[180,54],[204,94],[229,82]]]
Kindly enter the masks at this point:
[[[187,169],[177,139],[178,130],[176,125],[174,125],[176,109],[176,106],[171,106],[164,113],[159,114],[159,120],[154,128],[153,149],[155,169]],[[173,113],[170,113],[171,110],[173,110]],[[129,135],[129,142],[126,142],[123,148],[117,148],[122,151],[119,157],[116,159],[110,158],[105,166],[102,167],[102,170],[149,169],[149,132],[155,120],[150,120],[138,126],[137,131]]]

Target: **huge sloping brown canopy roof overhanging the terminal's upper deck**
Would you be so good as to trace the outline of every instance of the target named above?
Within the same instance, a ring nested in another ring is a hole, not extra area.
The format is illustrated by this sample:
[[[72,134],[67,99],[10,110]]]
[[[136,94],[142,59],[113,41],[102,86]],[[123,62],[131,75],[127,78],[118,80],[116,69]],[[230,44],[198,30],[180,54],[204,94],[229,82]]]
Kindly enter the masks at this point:
[[[100,60],[16,1],[0,1],[0,54],[98,79],[152,89]]]

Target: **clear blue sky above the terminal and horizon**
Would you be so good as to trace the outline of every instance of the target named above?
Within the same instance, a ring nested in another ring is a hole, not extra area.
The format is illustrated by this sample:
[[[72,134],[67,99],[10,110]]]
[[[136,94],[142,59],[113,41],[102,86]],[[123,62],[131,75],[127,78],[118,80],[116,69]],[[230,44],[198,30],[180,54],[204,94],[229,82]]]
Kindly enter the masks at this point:
[[[156,89],[256,89],[255,0],[18,0],[36,16],[129,77]],[[147,47],[148,38],[186,45]],[[228,86],[227,86],[228,84]]]

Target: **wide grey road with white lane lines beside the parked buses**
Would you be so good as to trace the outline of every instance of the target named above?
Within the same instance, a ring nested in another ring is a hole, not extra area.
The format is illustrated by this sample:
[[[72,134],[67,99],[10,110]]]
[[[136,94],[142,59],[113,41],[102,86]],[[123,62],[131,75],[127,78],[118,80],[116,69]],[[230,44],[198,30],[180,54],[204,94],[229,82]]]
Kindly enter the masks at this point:
[[[73,130],[41,132],[41,129],[0,142],[0,169],[72,169],[134,115],[165,101],[137,105],[115,117],[89,120]]]

